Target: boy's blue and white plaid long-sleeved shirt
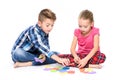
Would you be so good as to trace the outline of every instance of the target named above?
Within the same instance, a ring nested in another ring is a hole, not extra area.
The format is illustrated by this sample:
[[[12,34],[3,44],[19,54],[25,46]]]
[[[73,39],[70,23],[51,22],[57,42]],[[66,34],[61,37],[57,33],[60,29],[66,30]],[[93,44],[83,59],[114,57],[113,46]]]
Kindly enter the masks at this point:
[[[23,48],[25,51],[32,52],[37,49],[46,56],[51,57],[53,54],[57,54],[57,52],[50,51],[48,37],[49,35],[38,24],[30,26],[20,34],[13,46],[12,52],[17,48]]]

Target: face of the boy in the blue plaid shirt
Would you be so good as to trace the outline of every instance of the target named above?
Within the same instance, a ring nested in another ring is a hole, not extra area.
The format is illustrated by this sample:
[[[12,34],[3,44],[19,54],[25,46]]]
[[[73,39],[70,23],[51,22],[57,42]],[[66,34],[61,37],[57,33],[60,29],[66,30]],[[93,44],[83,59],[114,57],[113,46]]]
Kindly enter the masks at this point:
[[[54,21],[51,19],[44,19],[42,22],[38,21],[38,24],[46,34],[49,34],[49,32],[53,29]]]

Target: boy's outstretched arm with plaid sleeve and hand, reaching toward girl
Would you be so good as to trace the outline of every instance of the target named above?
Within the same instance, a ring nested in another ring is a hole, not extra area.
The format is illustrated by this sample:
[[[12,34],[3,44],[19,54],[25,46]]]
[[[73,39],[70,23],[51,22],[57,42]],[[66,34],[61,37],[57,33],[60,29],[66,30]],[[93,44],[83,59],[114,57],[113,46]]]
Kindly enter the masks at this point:
[[[43,54],[45,54],[47,57],[52,58],[56,60],[57,62],[61,63],[62,65],[68,65],[69,60],[66,58],[60,58],[56,54],[57,52],[50,51],[49,47],[44,45],[44,43],[41,40],[41,35],[37,33],[37,31],[32,31],[34,33],[31,33],[31,41],[34,43],[35,47],[38,48]]]

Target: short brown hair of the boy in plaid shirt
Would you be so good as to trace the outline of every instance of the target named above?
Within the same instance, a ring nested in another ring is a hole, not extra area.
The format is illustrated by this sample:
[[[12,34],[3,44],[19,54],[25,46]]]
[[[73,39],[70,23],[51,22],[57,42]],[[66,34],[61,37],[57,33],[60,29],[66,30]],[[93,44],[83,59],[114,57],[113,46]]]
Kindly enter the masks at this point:
[[[56,15],[50,9],[43,9],[38,16],[38,20],[43,22],[46,18],[51,19],[53,21],[56,20]]]

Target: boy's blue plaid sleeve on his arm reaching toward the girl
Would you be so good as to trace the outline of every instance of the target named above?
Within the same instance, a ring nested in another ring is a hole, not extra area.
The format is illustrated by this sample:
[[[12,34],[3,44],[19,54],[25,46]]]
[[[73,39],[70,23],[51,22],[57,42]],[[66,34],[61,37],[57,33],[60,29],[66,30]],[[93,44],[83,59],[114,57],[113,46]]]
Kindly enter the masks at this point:
[[[44,45],[44,43],[41,40],[41,36],[39,35],[39,33],[37,31],[31,31],[32,33],[30,34],[30,38],[32,43],[34,44],[34,46],[39,49],[39,51],[41,51],[43,54],[45,54],[46,56],[48,56],[49,58],[53,55],[53,54],[57,54],[57,52],[54,51],[50,51],[49,47]]]

